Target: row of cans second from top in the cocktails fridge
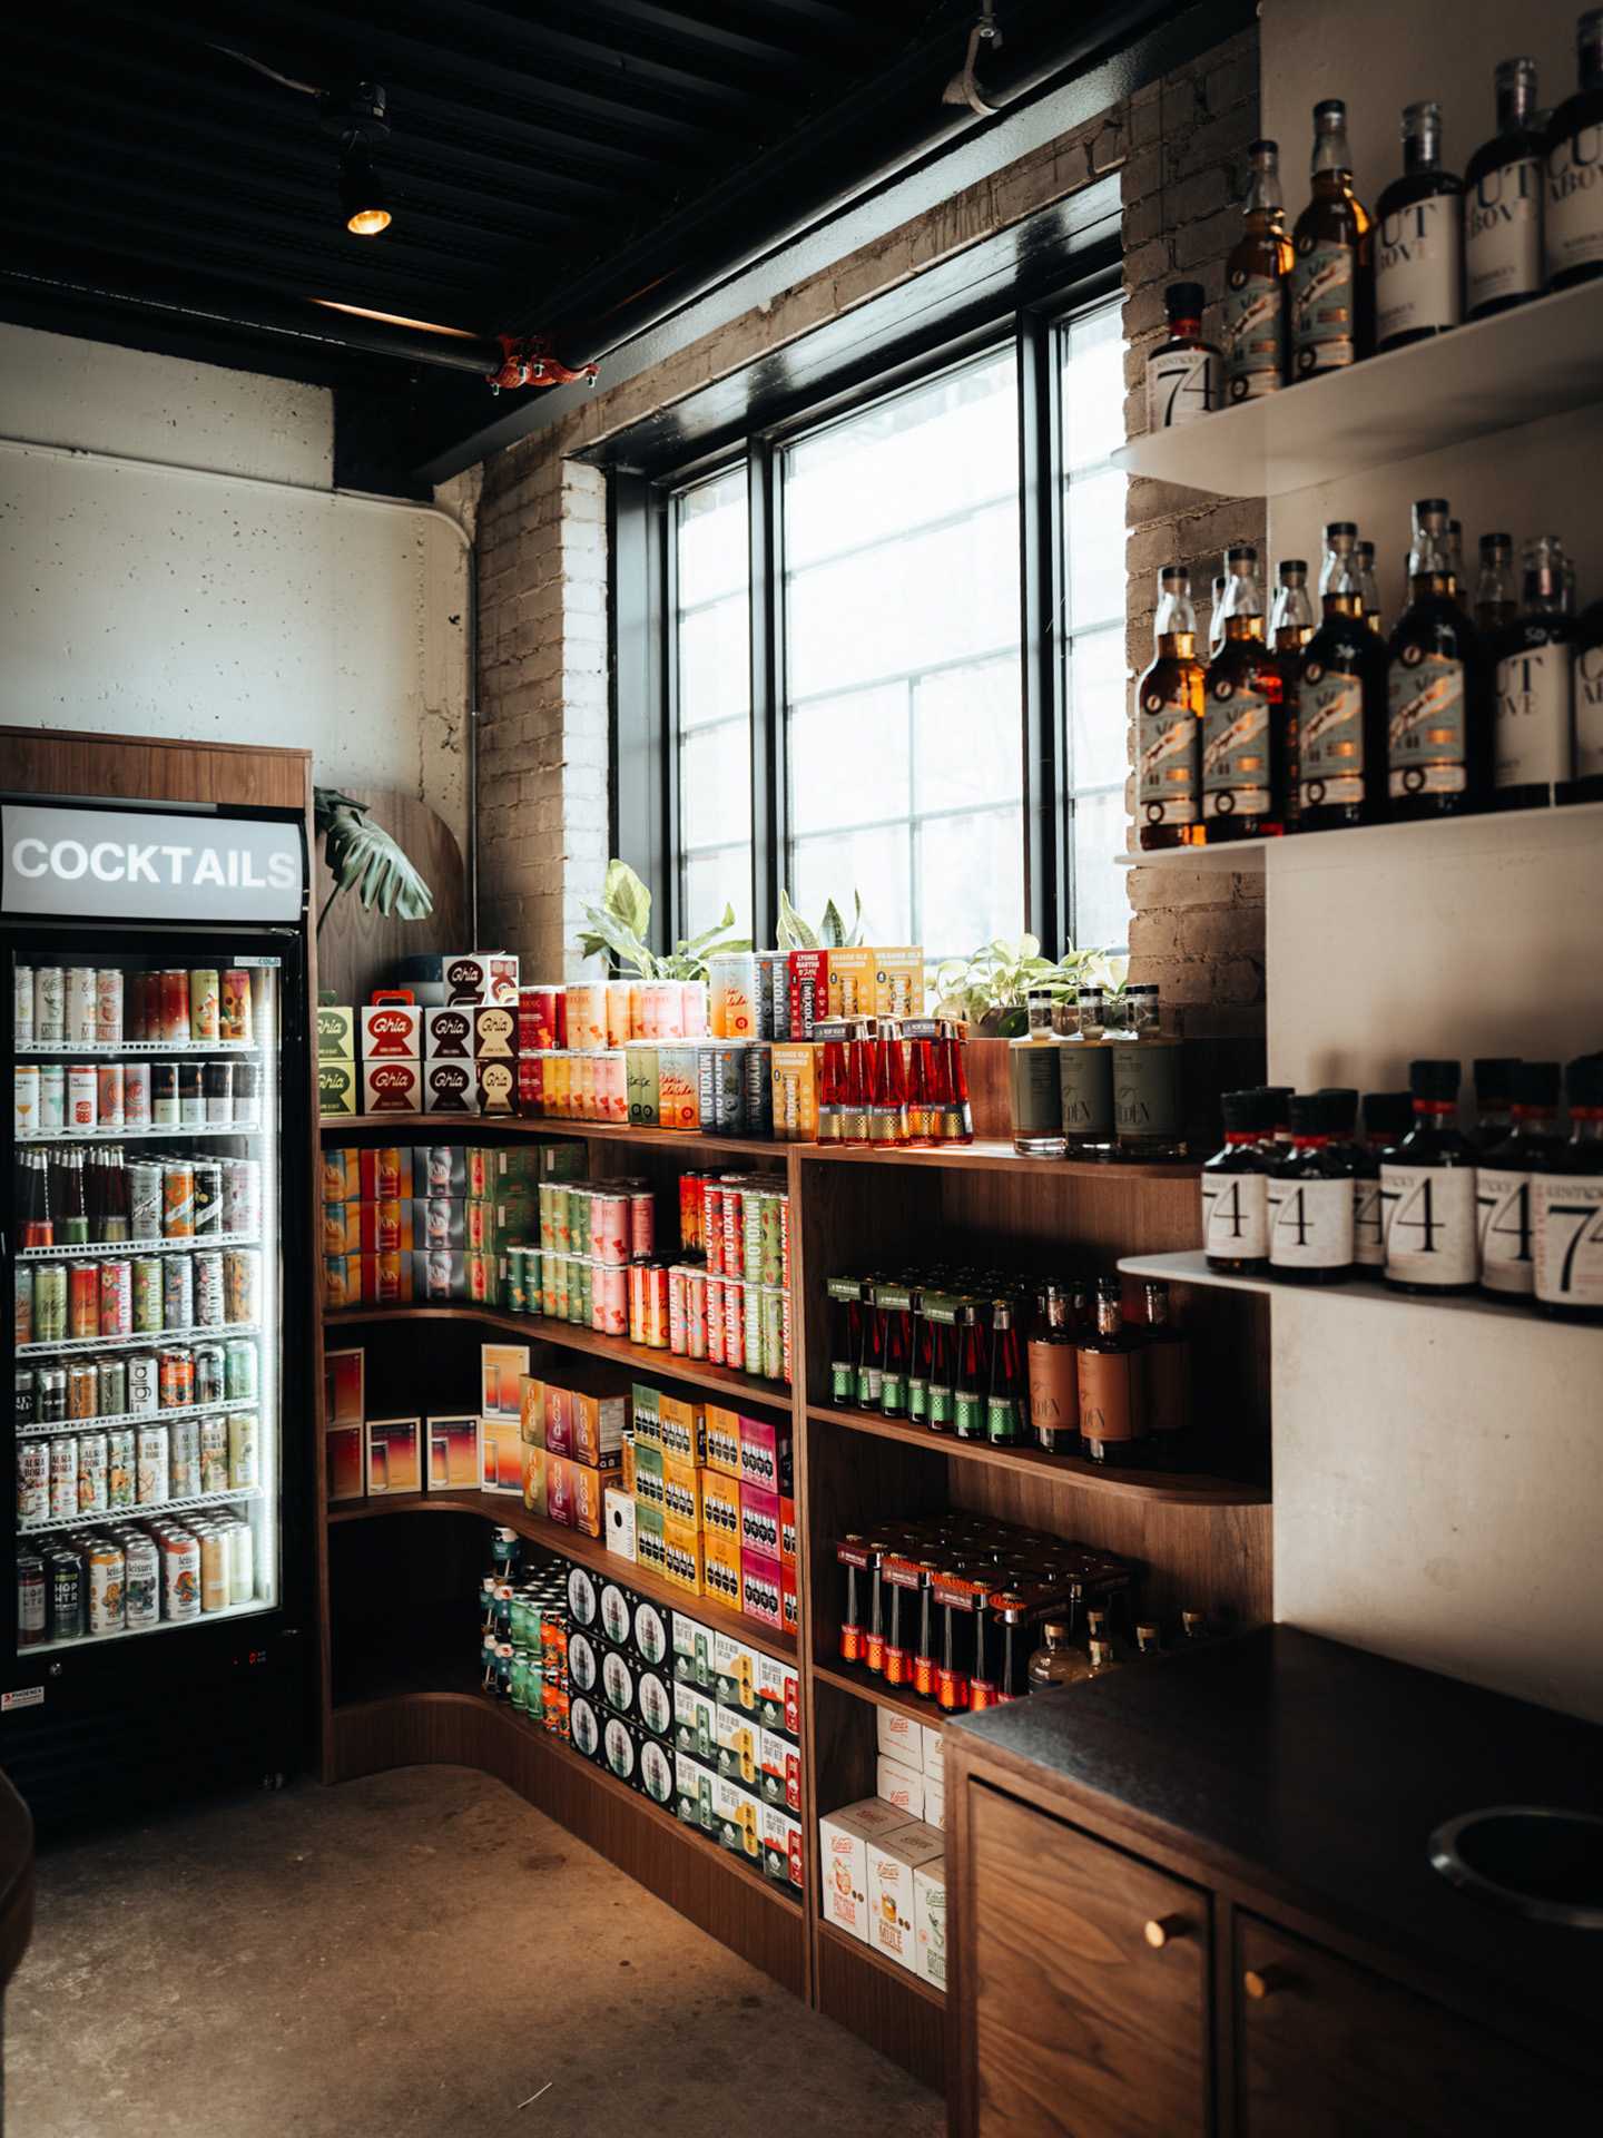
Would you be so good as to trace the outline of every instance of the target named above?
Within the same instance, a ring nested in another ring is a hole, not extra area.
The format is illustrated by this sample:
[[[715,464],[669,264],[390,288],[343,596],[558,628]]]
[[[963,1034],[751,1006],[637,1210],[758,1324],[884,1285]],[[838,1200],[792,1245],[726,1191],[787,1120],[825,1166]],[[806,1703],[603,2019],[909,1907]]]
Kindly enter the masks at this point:
[[[17,1063],[17,1135],[261,1127],[261,1063]]]

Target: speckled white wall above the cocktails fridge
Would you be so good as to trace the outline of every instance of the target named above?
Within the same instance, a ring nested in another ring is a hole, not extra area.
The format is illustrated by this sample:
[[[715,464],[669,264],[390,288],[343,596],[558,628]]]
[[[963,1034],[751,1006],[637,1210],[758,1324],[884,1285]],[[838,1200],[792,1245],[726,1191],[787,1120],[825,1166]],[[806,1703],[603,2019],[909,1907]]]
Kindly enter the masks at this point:
[[[464,838],[466,554],[308,494],[327,389],[0,325],[0,438],[162,464],[0,445],[0,721],[310,748]]]

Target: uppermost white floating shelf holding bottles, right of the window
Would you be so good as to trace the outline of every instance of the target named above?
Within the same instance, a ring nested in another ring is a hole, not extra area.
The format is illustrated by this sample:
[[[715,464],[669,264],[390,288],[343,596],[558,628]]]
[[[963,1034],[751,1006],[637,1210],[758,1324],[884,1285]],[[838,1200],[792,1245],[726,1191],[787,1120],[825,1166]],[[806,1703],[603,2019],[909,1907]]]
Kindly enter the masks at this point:
[[[1599,396],[1603,282],[1584,282],[1438,340],[1370,357],[1351,372],[1131,438],[1114,462],[1126,475],[1186,490],[1282,498],[1562,415]]]

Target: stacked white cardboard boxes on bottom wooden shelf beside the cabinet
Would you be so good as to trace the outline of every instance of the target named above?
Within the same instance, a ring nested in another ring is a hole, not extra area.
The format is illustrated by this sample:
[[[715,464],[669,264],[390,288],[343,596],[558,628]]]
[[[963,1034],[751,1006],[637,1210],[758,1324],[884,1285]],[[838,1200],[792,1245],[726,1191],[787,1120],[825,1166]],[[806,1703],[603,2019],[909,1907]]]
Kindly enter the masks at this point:
[[[819,1819],[823,1916],[945,1990],[945,1740],[908,1715],[874,1713],[878,1794]]]

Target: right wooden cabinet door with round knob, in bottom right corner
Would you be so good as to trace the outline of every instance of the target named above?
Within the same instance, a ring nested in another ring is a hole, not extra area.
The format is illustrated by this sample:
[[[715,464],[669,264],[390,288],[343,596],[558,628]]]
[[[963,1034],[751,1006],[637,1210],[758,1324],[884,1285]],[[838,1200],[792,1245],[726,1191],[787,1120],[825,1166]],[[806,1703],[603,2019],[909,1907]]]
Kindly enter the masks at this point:
[[[1597,2100],[1579,2080],[1255,1916],[1235,1918],[1233,1997],[1240,2138],[1509,2138],[1594,2125]]]

